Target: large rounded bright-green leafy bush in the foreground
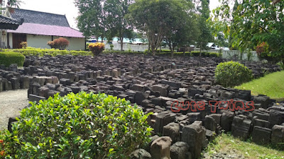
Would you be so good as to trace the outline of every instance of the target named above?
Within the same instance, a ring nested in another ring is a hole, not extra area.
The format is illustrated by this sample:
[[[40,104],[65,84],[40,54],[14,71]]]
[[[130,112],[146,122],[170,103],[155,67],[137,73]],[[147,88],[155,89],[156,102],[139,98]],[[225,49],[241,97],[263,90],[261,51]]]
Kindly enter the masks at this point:
[[[148,115],[125,99],[70,93],[21,111],[13,124],[11,158],[127,158],[149,141]]]

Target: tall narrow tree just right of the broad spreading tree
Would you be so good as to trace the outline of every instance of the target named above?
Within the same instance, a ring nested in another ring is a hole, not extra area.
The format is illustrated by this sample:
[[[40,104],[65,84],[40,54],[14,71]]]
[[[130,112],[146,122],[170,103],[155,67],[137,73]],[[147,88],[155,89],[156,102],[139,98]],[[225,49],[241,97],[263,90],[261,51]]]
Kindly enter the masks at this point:
[[[200,47],[200,56],[201,56],[201,50],[206,49],[207,43],[213,39],[211,30],[209,28],[209,24],[207,23],[207,19],[209,18],[210,15],[209,0],[201,0],[201,7],[198,7],[197,11],[200,12],[200,18],[199,18],[200,36],[197,40],[197,45]]]

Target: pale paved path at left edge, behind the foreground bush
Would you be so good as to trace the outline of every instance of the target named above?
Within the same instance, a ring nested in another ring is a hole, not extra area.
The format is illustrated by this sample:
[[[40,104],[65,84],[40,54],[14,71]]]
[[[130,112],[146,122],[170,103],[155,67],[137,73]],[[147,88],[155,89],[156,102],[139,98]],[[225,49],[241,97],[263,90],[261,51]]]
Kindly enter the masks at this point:
[[[0,93],[0,130],[7,129],[9,117],[19,115],[28,105],[28,90],[11,90]]]

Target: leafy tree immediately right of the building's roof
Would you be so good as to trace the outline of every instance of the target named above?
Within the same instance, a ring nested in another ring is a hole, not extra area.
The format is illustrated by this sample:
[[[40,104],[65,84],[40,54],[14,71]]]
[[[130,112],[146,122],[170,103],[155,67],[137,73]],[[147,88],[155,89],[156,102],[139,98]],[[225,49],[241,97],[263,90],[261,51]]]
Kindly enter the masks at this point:
[[[103,9],[104,0],[75,0],[75,5],[79,8],[79,16],[77,17],[78,28],[85,37],[94,35],[104,39],[106,36],[106,20]]]

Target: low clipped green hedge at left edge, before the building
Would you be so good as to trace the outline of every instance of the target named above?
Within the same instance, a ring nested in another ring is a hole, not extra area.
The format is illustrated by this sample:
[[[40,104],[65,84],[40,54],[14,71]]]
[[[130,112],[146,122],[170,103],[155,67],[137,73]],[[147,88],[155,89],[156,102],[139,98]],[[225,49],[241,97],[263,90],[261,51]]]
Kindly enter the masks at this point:
[[[0,52],[0,64],[4,64],[9,67],[11,64],[18,64],[18,66],[23,66],[25,61],[25,56],[18,52]]]

